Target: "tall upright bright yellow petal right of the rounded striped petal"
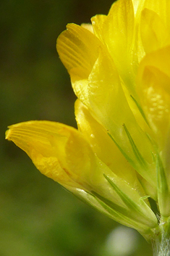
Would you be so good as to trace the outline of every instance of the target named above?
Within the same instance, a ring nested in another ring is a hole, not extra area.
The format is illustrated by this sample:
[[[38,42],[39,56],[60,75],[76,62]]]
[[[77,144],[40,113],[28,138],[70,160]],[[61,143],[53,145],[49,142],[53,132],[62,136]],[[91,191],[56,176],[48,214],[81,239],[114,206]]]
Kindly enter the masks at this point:
[[[131,0],[116,1],[103,22],[103,44],[119,70],[125,84],[133,87],[134,70],[132,49],[135,36],[134,12]]]

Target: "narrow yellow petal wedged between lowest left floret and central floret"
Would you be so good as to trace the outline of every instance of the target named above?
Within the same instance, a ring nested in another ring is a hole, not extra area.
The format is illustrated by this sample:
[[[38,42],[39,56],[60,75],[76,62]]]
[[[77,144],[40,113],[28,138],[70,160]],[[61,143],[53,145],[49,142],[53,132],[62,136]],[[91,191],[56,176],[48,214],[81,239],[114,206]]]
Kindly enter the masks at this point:
[[[75,103],[75,115],[79,130],[89,141],[98,158],[133,189],[139,191],[141,196],[144,196],[135,169],[129,165],[103,126],[90,115],[88,108],[79,100]]]

